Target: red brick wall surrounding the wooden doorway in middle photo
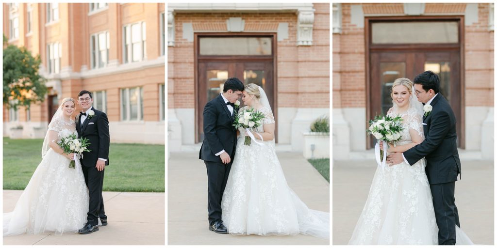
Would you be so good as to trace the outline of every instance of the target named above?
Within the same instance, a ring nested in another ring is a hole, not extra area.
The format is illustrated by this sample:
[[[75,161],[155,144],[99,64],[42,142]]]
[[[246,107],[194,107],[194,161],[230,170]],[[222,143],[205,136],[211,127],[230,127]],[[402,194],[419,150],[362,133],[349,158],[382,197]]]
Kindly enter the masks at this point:
[[[242,17],[245,32],[276,31],[288,23],[288,39],[277,43],[278,107],[330,106],[330,4],[314,3],[312,46],[297,46],[295,13],[176,13],[175,45],[168,47],[168,108],[194,108],[193,42],[183,39],[183,23],[195,31],[221,32],[226,19]]]

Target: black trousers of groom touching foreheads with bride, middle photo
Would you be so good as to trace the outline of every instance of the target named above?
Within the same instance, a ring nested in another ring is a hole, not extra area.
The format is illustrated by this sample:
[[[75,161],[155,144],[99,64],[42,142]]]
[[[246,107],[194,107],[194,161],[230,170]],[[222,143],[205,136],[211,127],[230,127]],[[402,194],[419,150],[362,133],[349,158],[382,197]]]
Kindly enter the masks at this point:
[[[233,159],[232,159],[233,161]],[[221,220],[221,200],[223,199],[228,175],[230,175],[231,162],[204,161],[207,168],[207,210],[209,211],[209,225]]]

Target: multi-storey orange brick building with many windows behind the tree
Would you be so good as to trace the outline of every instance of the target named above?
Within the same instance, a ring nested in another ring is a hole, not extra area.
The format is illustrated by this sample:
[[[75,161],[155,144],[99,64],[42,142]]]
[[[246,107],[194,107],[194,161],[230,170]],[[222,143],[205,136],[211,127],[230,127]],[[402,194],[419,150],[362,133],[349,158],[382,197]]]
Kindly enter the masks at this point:
[[[2,7],[8,43],[40,55],[49,89],[29,111],[3,107],[4,136],[22,125],[23,137],[43,137],[60,101],[85,89],[107,113],[112,142],[165,143],[164,3]]]

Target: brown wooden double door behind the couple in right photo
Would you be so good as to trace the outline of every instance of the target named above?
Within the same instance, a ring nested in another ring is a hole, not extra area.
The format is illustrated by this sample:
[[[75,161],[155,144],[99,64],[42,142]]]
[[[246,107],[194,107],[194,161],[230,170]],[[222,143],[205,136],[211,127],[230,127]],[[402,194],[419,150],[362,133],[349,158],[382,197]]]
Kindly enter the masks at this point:
[[[419,73],[432,70],[440,77],[440,93],[448,100],[457,119],[457,144],[461,146],[462,137],[462,87],[460,52],[454,50],[411,50],[411,51],[371,51],[370,52],[370,90],[369,119],[385,115],[392,107],[390,96],[395,79],[407,77],[414,81]],[[370,138],[369,147],[374,139]]]

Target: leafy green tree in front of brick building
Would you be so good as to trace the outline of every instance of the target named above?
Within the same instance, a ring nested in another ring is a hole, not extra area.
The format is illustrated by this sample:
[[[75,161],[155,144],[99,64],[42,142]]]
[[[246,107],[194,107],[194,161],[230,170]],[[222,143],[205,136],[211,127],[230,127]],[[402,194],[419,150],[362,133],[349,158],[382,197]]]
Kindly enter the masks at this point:
[[[5,45],[5,35],[3,36]],[[45,78],[38,74],[40,56],[33,57],[25,47],[3,46],[3,104],[17,109],[43,102],[47,87]]]

